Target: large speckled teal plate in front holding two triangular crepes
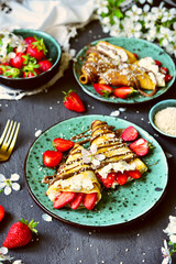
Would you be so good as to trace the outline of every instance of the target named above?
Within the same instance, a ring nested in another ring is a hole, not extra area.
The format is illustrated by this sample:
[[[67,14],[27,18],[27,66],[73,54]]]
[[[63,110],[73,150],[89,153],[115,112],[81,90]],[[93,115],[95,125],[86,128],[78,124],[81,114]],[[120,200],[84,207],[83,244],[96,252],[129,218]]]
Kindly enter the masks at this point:
[[[45,175],[53,175],[54,170],[46,168],[42,163],[42,153],[52,150],[55,138],[70,139],[90,127],[94,120],[107,121],[117,129],[134,125],[140,135],[154,145],[153,152],[143,158],[148,167],[139,180],[120,186],[116,190],[103,190],[102,199],[95,210],[72,210],[53,208],[53,202],[44,195],[47,186],[42,184]],[[34,201],[52,217],[74,226],[84,227],[111,227],[123,224],[151,210],[164,194],[167,184],[167,162],[160,144],[140,127],[107,116],[85,116],[57,123],[46,130],[31,146],[24,165],[25,182]]]

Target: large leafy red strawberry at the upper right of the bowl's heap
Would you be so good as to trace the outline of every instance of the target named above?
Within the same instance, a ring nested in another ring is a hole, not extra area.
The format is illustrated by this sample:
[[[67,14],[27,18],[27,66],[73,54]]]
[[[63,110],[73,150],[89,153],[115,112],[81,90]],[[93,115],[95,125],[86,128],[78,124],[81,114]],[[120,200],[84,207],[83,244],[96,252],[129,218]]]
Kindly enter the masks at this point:
[[[26,48],[26,54],[30,54],[32,57],[36,58],[37,62],[44,59],[47,50],[43,38],[35,40],[35,42],[30,43]]]

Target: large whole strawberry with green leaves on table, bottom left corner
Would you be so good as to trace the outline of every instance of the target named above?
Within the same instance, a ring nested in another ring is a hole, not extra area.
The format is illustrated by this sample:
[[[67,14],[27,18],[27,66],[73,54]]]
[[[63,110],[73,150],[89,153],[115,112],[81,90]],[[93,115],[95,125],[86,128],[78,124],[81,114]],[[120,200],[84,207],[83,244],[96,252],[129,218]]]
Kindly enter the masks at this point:
[[[24,221],[24,219],[13,223],[3,242],[3,246],[8,249],[15,249],[26,245],[32,240],[32,232],[37,233],[35,229],[37,223],[38,222],[34,222],[34,219],[30,223]]]

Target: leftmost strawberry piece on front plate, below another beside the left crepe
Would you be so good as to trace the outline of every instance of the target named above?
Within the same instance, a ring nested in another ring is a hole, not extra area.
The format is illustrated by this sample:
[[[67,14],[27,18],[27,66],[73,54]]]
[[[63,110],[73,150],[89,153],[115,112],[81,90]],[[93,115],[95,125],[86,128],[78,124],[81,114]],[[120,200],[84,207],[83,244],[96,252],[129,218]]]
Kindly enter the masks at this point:
[[[63,153],[57,151],[45,151],[43,153],[43,163],[47,167],[55,167],[63,158]]]

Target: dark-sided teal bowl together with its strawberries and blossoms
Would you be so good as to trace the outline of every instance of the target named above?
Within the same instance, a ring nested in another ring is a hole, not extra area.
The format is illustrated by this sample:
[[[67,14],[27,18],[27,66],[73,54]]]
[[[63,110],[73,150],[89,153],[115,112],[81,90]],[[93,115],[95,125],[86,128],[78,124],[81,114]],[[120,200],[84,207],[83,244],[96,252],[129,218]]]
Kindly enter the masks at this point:
[[[30,90],[47,84],[57,73],[61,46],[37,30],[0,31],[0,82]]]

